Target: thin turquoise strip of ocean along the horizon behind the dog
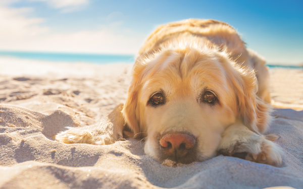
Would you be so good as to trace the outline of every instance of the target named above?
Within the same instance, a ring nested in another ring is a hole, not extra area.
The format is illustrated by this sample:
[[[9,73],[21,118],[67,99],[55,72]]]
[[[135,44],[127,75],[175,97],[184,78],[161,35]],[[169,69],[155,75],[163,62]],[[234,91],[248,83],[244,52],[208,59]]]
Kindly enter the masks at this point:
[[[127,63],[133,64],[135,55],[122,54],[84,54],[84,53],[55,53],[55,52],[17,52],[17,51],[0,51],[0,57],[15,57],[22,59],[34,59],[53,62],[86,62],[92,64],[115,64]],[[299,66],[274,65],[267,64],[269,68],[289,68],[303,69]]]

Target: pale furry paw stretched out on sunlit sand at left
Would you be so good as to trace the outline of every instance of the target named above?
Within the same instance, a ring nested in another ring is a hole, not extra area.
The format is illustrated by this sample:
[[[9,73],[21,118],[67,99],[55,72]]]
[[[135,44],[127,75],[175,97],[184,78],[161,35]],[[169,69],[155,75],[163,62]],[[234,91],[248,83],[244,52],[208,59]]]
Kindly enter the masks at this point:
[[[57,134],[54,138],[56,141],[63,142],[66,144],[72,144],[72,143],[93,144],[92,134],[88,131],[77,131],[71,129]]]

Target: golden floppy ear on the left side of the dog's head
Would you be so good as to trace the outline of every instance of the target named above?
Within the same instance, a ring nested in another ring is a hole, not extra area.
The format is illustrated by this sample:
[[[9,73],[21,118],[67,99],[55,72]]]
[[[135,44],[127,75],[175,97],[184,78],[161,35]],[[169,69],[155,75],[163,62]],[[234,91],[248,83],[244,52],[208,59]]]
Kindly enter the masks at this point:
[[[136,137],[140,133],[139,106],[138,106],[138,86],[130,86],[128,96],[122,110],[127,126],[134,132]]]

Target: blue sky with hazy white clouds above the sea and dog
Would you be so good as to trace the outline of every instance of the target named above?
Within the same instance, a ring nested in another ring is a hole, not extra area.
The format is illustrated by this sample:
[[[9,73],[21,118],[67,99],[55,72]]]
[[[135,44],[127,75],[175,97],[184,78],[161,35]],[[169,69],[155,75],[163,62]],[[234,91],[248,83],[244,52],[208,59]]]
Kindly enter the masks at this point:
[[[271,64],[303,64],[303,1],[0,0],[0,50],[136,54],[158,25],[233,26]]]

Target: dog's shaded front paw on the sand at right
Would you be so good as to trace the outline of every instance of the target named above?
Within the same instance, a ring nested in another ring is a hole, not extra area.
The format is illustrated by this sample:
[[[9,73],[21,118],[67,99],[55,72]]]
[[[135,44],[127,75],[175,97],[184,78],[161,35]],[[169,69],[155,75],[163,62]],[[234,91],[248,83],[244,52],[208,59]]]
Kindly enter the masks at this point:
[[[264,139],[260,147],[260,151],[257,153],[247,152],[245,159],[269,165],[280,165],[282,163],[282,151],[275,143]]]

